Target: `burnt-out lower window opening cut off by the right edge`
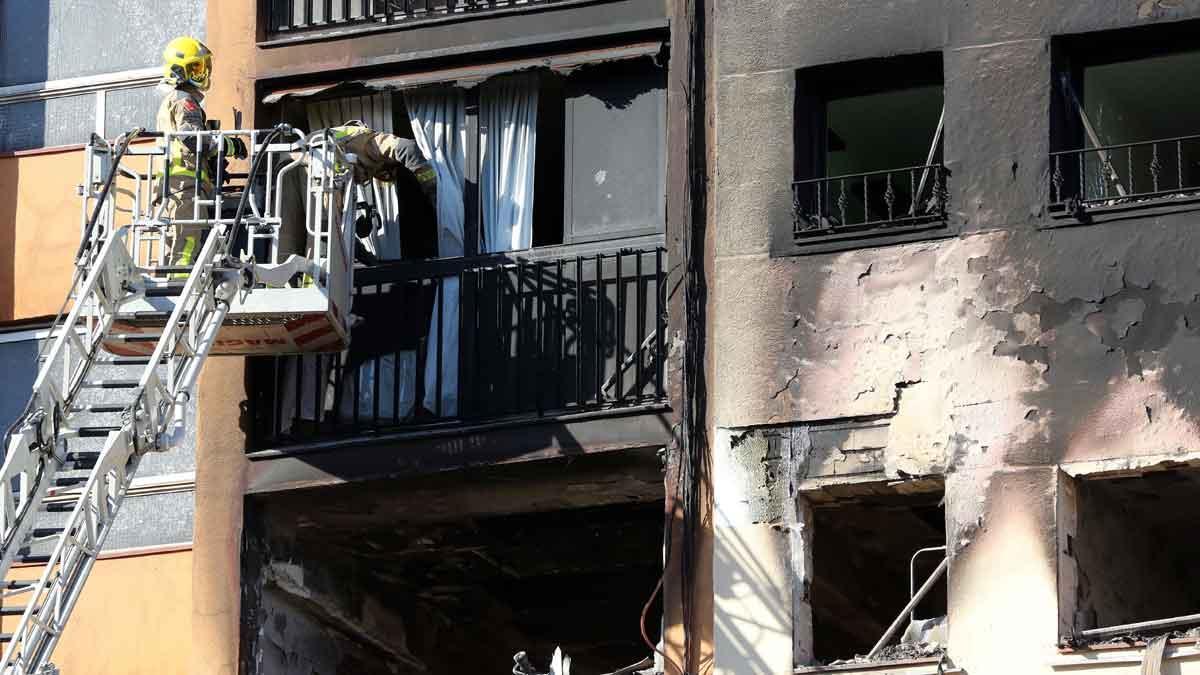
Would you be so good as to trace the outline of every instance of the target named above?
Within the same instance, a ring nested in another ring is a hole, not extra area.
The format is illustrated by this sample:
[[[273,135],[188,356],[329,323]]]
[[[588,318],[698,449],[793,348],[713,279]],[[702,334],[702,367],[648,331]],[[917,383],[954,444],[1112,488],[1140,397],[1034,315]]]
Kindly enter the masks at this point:
[[[1200,471],[1066,478],[1058,551],[1063,638],[1084,646],[1200,626]]]

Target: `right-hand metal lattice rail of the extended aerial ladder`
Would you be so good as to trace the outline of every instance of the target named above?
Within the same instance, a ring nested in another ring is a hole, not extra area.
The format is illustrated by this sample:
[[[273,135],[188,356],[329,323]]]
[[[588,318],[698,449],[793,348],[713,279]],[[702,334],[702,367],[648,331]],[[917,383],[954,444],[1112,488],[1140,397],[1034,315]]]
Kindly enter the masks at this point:
[[[142,455],[169,450],[179,442],[188,392],[224,321],[229,300],[241,287],[238,270],[214,268],[226,243],[224,234],[224,227],[218,227],[205,241],[185,285],[182,301],[176,304],[139,380],[131,414],[120,430],[109,434],[42,577],[30,587],[30,602],[5,650],[0,673],[32,674],[48,662]],[[162,380],[157,365],[164,358],[168,377]]]

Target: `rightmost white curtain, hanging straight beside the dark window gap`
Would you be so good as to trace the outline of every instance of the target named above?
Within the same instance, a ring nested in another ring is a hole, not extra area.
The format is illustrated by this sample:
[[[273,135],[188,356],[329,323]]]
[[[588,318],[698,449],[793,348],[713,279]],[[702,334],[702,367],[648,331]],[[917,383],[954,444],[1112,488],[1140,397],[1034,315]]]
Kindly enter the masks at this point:
[[[479,92],[484,251],[533,246],[534,154],[538,147],[538,76],[487,80]]]

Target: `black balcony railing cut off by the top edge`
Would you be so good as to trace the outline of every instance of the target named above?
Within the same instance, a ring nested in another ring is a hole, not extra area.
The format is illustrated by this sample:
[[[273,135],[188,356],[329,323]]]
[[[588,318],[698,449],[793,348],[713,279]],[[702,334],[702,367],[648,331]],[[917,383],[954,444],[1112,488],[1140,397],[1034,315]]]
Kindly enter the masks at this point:
[[[265,0],[269,32],[390,25],[445,17],[470,16],[515,7],[551,5],[562,0]]]

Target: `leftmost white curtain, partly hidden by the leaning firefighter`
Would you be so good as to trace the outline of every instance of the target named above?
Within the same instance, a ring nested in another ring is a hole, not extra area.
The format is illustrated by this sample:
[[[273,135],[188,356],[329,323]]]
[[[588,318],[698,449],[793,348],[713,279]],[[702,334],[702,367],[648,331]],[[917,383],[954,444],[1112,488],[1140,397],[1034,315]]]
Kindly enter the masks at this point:
[[[308,130],[317,131],[358,120],[374,131],[395,133],[391,100],[392,95],[384,92],[308,103],[306,107]],[[400,201],[396,187],[390,183],[372,180],[371,185],[358,187],[356,198],[359,202],[374,204],[383,223],[382,228],[373,231],[371,237],[364,240],[366,247],[379,259],[400,259],[400,228],[403,223],[397,222]]]

